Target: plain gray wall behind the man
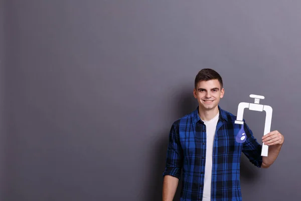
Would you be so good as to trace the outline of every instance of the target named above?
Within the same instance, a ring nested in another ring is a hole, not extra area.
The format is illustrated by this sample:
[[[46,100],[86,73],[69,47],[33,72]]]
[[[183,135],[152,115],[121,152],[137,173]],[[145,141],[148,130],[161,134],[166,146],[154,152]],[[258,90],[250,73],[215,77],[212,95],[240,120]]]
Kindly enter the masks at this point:
[[[300,9],[0,1],[1,200],[161,200],[168,132],[197,107],[202,68],[222,75],[223,109],[236,115],[264,95],[271,129],[285,136],[269,169],[242,158],[244,200],[299,199]],[[244,118],[260,139],[265,114]]]

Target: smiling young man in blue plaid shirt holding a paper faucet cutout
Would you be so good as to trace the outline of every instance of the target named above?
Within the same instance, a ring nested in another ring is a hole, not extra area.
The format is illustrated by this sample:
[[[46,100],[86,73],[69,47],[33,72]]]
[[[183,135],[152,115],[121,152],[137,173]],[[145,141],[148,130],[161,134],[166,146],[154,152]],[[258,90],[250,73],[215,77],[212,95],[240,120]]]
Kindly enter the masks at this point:
[[[181,170],[181,200],[241,200],[241,152],[255,166],[267,168],[277,158],[284,137],[278,131],[266,134],[262,142],[269,146],[268,156],[262,157],[262,146],[244,122],[246,141],[237,142],[242,125],[234,124],[236,117],[218,106],[223,81],[212,69],[197,74],[193,93],[199,106],[174,122],[169,134],[163,201],[173,200]]]

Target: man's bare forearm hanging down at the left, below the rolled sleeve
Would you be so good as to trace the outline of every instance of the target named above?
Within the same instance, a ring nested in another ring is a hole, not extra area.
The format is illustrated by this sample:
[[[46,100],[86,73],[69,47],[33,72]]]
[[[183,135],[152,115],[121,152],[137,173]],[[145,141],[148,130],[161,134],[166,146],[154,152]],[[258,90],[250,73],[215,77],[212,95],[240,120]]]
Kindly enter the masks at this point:
[[[163,180],[163,201],[173,201],[177,191],[179,179],[174,176],[166,175]]]

